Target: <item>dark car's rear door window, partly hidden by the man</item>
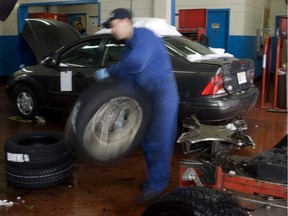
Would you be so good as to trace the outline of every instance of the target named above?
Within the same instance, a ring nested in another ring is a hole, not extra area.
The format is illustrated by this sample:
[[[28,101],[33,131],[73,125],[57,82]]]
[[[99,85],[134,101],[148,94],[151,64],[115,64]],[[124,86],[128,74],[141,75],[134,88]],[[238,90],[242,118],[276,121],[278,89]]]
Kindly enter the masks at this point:
[[[117,41],[111,38],[105,46],[102,65],[108,67],[120,61],[124,48],[124,41]]]

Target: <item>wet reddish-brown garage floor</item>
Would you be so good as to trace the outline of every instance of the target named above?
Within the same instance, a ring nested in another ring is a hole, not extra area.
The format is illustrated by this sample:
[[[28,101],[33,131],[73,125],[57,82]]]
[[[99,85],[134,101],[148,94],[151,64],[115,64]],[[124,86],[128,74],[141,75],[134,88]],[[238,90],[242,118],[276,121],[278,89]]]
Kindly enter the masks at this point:
[[[145,162],[141,149],[114,163],[91,163],[75,159],[74,172],[67,182],[44,189],[23,190],[7,185],[3,145],[6,139],[19,133],[52,130],[64,131],[65,117],[46,119],[46,123],[19,122],[7,101],[4,82],[0,83],[0,201],[12,201],[12,207],[0,206],[1,216],[140,216],[147,207],[138,204],[139,185],[145,178]],[[239,155],[253,156],[273,147],[287,133],[287,114],[267,112],[257,103],[245,116],[247,134],[256,143],[256,149],[247,148]],[[179,160],[187,158],[179,145],[175,146],[171,183],[168,190],[178,186]],[[286,210],[263,207],[251,212],[257,216],[286,216]]]

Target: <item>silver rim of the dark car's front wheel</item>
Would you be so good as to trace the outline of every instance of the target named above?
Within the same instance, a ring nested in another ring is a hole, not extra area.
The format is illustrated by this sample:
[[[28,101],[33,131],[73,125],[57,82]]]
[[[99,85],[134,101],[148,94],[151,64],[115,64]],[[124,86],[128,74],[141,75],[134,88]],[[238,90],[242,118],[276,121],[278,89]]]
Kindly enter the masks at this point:
[[[17,97],[17,107],[23,115],[30,115],[34,107],[31,95],[27,92],[21,92]]]

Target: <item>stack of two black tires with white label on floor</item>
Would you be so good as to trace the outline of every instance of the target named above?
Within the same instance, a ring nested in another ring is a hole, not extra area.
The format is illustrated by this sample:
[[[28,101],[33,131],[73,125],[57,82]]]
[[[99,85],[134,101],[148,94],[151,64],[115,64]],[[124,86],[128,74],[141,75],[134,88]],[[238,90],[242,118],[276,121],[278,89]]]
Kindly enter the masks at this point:
[[[4,143],[7,183],[26,189],[54,186],[73,172],[71,150],[64,133],[34,131],[15,135]]]

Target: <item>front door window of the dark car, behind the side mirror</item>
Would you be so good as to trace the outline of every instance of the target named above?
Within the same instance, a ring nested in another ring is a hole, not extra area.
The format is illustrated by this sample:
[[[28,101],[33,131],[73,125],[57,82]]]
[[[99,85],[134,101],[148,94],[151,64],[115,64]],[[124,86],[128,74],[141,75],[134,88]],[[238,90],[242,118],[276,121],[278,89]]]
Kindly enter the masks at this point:
[[[84,41],[60,56],[62,67],[93,67],[99,52],[101,39]]]

